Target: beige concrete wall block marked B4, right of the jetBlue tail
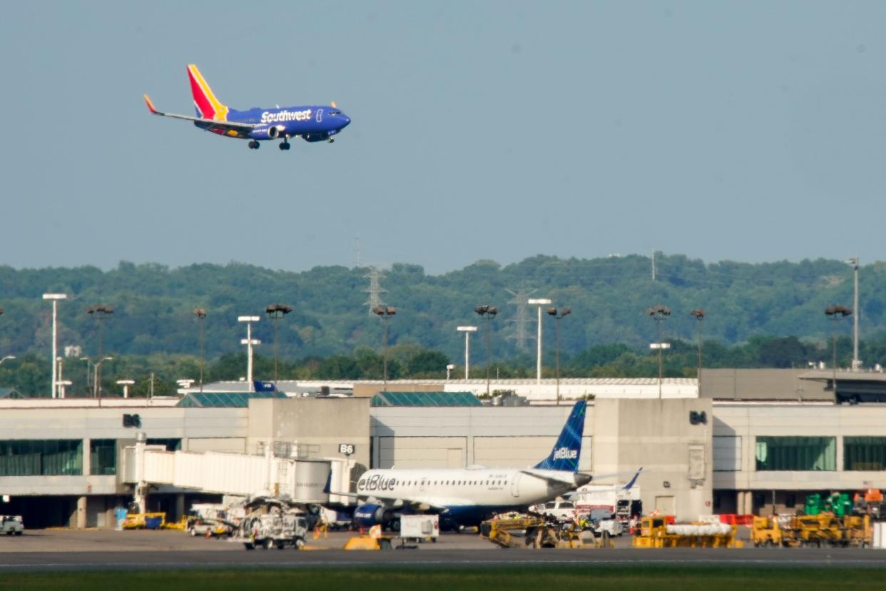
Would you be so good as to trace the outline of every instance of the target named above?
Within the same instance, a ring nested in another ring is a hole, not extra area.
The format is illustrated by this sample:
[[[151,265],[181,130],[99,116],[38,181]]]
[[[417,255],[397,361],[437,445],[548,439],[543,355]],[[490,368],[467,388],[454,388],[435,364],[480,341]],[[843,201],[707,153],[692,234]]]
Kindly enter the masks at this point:
[[[595,400],[597,473],[643,467],[637,485],[643,511],[659,509],[680,520],[711,513],[711,400]],[[707,424],[690,424],[703,412]]]

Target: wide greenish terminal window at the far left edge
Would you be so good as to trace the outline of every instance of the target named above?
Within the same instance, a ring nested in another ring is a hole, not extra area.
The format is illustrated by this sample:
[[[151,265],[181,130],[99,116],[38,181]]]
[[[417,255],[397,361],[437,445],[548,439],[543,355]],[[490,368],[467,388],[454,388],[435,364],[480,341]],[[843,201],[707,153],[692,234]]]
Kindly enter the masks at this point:
[[[0,441],[0,476],[81,476],[82,439]]]

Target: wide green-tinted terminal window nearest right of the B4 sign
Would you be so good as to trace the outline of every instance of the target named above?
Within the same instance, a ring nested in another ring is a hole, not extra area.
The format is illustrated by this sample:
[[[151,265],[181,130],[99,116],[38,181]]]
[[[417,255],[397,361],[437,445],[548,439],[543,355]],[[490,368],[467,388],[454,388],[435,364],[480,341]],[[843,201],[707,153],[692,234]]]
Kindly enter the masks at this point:
[[[836,470],[835,437],[758,437],[757,470]]]

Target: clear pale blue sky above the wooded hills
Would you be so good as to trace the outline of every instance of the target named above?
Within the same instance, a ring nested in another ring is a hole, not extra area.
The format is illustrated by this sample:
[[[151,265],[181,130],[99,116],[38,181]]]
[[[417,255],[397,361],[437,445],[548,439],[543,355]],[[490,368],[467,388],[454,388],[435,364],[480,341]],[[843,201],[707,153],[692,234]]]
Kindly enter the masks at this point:
[[[430,273],[534,254],[881,260],[882,2],[16,2],[0,20],[16,268]],[[337,101],[251,151],[193,112]]]

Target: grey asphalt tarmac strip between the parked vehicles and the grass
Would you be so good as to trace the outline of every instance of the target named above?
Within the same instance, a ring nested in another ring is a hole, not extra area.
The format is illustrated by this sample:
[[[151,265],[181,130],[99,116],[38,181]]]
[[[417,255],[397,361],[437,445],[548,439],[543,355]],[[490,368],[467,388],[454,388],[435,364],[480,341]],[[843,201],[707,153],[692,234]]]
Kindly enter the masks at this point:
[[[341,549],[351,534],[310,540],[309,549],[246,550],[225,540],[191,538],[175,531],[45,530],[0,538],[0,571],[113,571],[216,568],[470,568],[545,564],[719,564],[754,566],[886,567],[886,550],[870,548],[617,548],[504,549],[476,534],[443,534],[436,543],[390,551]]]

